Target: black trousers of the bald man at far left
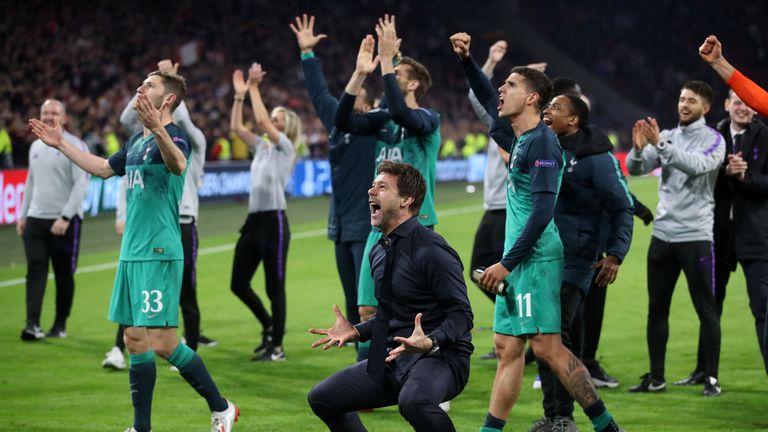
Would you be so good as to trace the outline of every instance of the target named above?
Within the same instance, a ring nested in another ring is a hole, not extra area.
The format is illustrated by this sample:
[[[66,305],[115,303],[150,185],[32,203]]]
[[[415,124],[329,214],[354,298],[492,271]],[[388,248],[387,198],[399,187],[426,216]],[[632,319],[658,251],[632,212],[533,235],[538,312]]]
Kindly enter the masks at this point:
[[[27,325],[40,325],[43,296],[48,281],[48,262],[56,280],[56,317],[54,327],[66,328],[75,297],[75,270],[80,250],[80,218],[75,216],[63,236],[53,235],[54,219],[27,218],[24,228],[24,252],[27,256]]]

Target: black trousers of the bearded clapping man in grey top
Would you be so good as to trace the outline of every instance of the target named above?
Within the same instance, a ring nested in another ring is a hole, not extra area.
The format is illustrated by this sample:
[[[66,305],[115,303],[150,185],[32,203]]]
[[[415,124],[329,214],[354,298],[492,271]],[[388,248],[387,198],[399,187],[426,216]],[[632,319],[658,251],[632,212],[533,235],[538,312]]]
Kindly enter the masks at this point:
[[[669,309],[672,293],[685,274],[693,307],[699,317],[704,347],[704,373],[717,377],[720,360],[720,316],[715,302],[712,243],[669,243],[651,238],[648,248],[648,354],[651,375],[664,380],[664,360],[669,339]]]

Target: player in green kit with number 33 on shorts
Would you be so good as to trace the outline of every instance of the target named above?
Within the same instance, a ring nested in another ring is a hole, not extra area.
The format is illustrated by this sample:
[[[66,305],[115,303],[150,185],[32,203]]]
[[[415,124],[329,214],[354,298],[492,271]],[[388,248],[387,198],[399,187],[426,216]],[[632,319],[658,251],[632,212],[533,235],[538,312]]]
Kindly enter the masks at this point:
[[[32,131],[85,171],[101,178],[127,175],[127,215],[120,262],[112,291],[109,319],[123,324],[130,353],[133,427],[151,429],[155,354],[179,369],[181,376],[208,402],[211,430],[229,432],[237,407],[219,394],[203,361],[176,335],[184,254],[179,228],[179,201],[184,188],[187,137],[173,124],[172,113],[186,93],[183,77],[155,71],[136,90],[136,111],[144,125],[108,160],[68,143],[61,125],[30,120]]]

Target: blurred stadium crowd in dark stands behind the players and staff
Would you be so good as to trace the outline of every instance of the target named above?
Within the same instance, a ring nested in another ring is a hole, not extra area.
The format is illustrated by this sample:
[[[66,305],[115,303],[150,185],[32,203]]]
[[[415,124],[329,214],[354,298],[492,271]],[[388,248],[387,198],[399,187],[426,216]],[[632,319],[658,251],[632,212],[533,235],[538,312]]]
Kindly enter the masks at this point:
[[[76,2],[49,6],[35,0],[12,7],[0,5],[6,17],[0,23],[0,52],[4,54],[0,62],[0,131],[7,133],[12,143],[15,166],[27,165],[33,137],[25,119],[36,114],[39,101],[45,97],[56,97],[66,103],[71,116],[69,129],[83,137],[92,152],[114,153],[128,138],[117,119],[121,107],[135,91],[133,83],[138,82],[144,72],[153,70],[157,59],[179,58],[180,48],[188,43],[191,43],[189,49],[198,54],[193,64],[184,65],[184,73],[191,83],[188,103],[193,120],[208,141],[209,159],[249,158],[247,146],[229,134],[228,101],[232,94],[230,71],[247,67],[253,60],[260,61],[270,74],[265,88],[267,104],[284,104],[301,116],[305,126],[302,156],[327,157],[327,133],[311,115],[311,104],[302,91],[298,52],[290,43],[292,35],[286,25],[293,11],[304,10],[300,0],[285,1],[280,8],[270,7],[267,1],[173,4],[176,12],[170,21],[140,13],[157,3],[171,7],[167,1],[130,4],[97,1],[89,3],[88,14],[81,14]],[[736,14],[726,4],[716,4],[716,11],[695,15],[690,6],[672,1],[661,15],[651,9],[638,10],[610,1],[591,3],[590,7],[557,3],[544,11],[528,2],[519,2],[517,10],[522,18],[538,23],[541,34],[547,35],[563,52],[584,59],[583,65],[596,76],[628,99],[659,113],[664,124],[674,123],[674,112],[668,109],[670,95],[685,77],[700,71],[701,66],[675,54],[695,45],[693,36],[669,37],[654,32],[658,20],[667,24],[688,20],[699,28],[713,31],[726,23],[732,26],[737,22],[746,31],[735,32],[728,41],[734,55],[747,60],[743,66],[747,73],[758,81],[765,78],[759,65],[764,63],[768,47],[764,46],[766,39],[761,37],[763,30],[756,21],[765,16],[765,7],[759,3],[745,6],[750,13]],[[458,90],[463,86],[463,77],[450,67],[453,59],[444,49],[444,36],[454,29],[456,17],[449,16],[448,8],[439,4],[436,1],[365,0],[359,8],[370,11],[367,13],[371,17],[387,11],[402,17],[403,36],[408,41],[403,51],[423,59],[430,67],[440,91],[430,92],[427,105],[434,107],[445,120],[441,129],[444,141],[456,142],[460,151],[466,138],[482,132],[484,127],[474,119],[467,101],[460,97]],[[586,12],[593,8],[607,12],[599,15]],[[340,94],[349,73],[350,53],[356,49],[353,36],[370,31],[366,27],[368,20],[349,20],[346,10],[331,2],[315,2],[309,12],[323,17],[318,30],[333,41],[322,48],[322,54],[327,59],[329,86]],[[415,18],[424,14],[429,14],[431,19]],[[730,15],[736,21],[722,19]],[[116,21],[110,19],[112,16],[125,18]],[[605,19],[606,16],[612,19]],[[565,20],[573,21],[574,25],[556,24]],[[145,49],[151,36],[149,29],[159,27],[167,30],[162,44]],[[617,32],[623,37],[602,36]],[[264,42],[275,38],[284,38],[286,43]],[[653,52],[642,48],[649,42],[657,47]],[[675,61],[658,62],[659,49],[663,50],[662,58]],[[747,55],[741,50],[756,55]],[[510,53],[511,59],[505,60],[502,66],[511,66],[514,56]],[[653,79],[648,78],[648,70],[655,71]],[[707,81],[715,82],[711,77]],[[585,89],[587,93],[588,90]],[[609,105],[610,101],[598,101],[596,112]],[[246,117],[249,114],[246,107]],[[627,125],[623,126],[628,129]],[[621,141],[623,148],[628,149],[628,136],[622,134],[622,137],[625,138]],[[220,154],[224,144],[220,140],[230,143],[229,156]]]

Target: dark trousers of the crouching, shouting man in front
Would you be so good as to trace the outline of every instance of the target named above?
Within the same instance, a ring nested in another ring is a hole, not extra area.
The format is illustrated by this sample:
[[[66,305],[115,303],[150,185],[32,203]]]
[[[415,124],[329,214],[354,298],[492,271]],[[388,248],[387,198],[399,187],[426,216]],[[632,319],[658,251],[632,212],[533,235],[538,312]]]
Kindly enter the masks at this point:
[[[413,354],[418,355],[418,354]],[[416,431],[455,431],[439,404],[456,397],[469,380],[469,359],[456,373],[441,356],[416,361],[403,381],[387,373],[384,382],[368,376],[368,360],[326,378],[309,392],[309,406],[331,431],[365,431],[357,412],[397,405]]]

